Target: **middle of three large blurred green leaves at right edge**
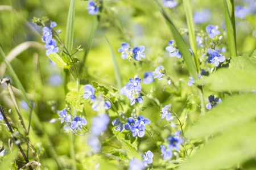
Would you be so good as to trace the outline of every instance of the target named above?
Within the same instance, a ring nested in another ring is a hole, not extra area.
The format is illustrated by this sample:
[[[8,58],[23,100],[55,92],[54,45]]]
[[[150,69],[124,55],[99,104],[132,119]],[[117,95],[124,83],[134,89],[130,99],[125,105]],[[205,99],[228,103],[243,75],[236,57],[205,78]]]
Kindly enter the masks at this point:
[[[203,138],[246,124],[256,117],[255,101],[256,94],[242,94],[222,99],[222,103],[201,117],[185,137]]]

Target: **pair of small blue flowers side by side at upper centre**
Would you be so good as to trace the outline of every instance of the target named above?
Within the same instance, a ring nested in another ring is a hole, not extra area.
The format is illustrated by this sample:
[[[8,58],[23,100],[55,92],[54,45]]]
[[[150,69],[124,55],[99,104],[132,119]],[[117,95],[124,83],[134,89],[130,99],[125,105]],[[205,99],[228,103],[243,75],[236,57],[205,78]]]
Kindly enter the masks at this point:
[[[118,52],[122,53],[121,57],[123,59],[129,59],[131,61],[134,58],[136,61],[141,60],[141,58],[145,58],[145,54],[143,53],[145,50],[144,46],[136,46],[131,48],[127,42],[123,42],[121,44],[121,48],[118,49]]]

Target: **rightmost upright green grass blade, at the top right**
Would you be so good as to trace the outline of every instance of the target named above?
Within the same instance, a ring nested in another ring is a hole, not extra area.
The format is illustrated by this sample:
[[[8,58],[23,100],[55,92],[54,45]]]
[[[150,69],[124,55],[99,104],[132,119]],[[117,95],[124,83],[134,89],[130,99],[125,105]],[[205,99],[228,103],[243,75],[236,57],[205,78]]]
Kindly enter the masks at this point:
[[[236,40],[236,25],[234,18],[234,1],[233,0],[223,0],[225,20],[226,20],[226,30],[228,33],[229,42],[229,55],[230,57],[237,56],[237,40]]]

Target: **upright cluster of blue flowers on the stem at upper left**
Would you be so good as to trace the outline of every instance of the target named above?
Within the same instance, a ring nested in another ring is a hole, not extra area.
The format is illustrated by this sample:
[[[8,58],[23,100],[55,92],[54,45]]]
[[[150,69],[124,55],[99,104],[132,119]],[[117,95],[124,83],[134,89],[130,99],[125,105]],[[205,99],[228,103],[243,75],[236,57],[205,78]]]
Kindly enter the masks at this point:
[[[46,49],[48,49],[46,51],[46,55],[48,56],[51,53],[57,53],[59,52],[59,47],[56,46],[57,42],[56,40],[52,39],[52,28],[56,27],[56,23],[55,22],[51,22],[50,27],[44,27],[43,28],[43,37],[42,40],[43,42],[46,43],[46,45],[44,45],[44,47]]]

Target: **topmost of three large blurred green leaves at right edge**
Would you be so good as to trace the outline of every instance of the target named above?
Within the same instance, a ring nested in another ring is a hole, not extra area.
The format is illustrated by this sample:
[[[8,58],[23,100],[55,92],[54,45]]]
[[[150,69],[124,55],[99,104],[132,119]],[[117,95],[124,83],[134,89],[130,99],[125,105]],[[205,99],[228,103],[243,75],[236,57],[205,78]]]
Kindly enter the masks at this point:
[[[256,72],[237,69],[220,69],[203,79],[196,80],[196,84],[204,84],[216,92],[242,92],[256,89]]]

